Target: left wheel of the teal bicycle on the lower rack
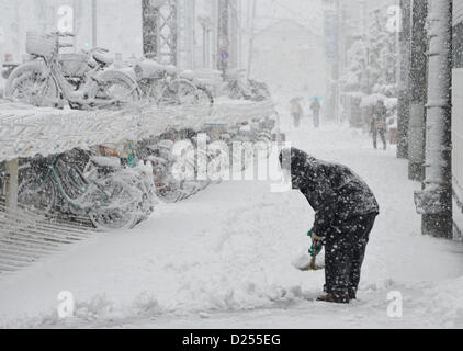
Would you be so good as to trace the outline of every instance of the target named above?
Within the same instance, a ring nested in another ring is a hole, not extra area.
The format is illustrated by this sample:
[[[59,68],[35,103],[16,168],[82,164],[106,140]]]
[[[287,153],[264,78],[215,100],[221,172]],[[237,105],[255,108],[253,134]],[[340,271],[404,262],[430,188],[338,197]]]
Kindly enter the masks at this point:
[[[33,212],[49,214],[56,200],[57,190],[49,180],[42,183],[36,178],[29,178],[18,188],[18,202]]]

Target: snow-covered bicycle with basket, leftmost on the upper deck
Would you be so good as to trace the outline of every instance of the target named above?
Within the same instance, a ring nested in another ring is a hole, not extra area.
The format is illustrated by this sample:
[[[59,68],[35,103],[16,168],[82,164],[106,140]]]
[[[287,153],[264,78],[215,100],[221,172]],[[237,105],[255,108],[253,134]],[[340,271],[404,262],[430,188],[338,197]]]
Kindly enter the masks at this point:
[[[33,60],[19,66],[10,75],[5,97],[35,106],[63,107],[66,101],[71,109],[91,110],[118,106],[140,99],[140,90],[132,77],[123,71],[108,69],[113,59],[108,50],[93,48],[83,57],[60,56],[59,38],[68,33],[37,34],[29,32],[26,52]],[[77,58],[80,78],[66,75],[66,63]]]

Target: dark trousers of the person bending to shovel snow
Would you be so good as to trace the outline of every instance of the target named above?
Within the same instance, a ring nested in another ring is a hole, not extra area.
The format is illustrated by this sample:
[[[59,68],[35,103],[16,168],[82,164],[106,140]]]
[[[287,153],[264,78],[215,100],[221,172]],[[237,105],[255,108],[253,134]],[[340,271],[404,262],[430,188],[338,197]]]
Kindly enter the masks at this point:
[[[357,294],[370,233],[376,214],[355,216],[341,223],[326,237],[325,292]]]

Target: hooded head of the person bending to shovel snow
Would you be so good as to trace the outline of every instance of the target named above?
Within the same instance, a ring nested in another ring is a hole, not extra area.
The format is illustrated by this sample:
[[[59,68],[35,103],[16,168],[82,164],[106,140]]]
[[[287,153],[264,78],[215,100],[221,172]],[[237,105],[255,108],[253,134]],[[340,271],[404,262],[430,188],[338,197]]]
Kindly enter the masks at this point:
[[[287,159],[290,156],[291,158]],[[301,190],[309,185],[316,162],[314,157],[294,147],[280,152],[280,166],[283,171],[291,172],[293,189]]]

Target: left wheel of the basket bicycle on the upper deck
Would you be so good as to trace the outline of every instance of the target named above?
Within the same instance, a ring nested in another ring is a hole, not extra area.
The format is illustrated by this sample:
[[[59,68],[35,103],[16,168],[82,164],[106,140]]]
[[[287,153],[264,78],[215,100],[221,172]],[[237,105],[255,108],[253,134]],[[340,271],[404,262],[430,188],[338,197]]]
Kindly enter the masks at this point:
[[[38,61],[26,63],[13,70],[7,81],[5,98],[37,107],[59,104],[55,80],[45,75],[44,65]]]

